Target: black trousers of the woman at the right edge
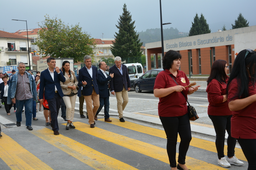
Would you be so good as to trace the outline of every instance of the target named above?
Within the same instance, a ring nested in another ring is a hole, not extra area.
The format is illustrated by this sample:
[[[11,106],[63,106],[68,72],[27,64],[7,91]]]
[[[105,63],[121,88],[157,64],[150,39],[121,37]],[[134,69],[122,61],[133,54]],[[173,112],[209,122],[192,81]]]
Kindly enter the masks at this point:
[[[248,161],[248,170],[256,170],[256,139],[237,139]]]

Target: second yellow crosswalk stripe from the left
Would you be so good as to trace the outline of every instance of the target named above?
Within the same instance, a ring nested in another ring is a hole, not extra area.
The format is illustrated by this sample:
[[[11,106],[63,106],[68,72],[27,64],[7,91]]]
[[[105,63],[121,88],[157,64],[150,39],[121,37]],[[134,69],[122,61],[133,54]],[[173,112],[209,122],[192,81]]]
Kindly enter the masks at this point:
[[[92,130],[92,129],[91,129]],[[90,128],[87,129],[90,131]],[[44,128],[38,131],[31,131],[37,137],[45,140],[49,144],[59,148],[60,150],[68,153],[81,162],[91,166],[94,169],[101,170],[137,170],[136,168],[125,164],[117,159],[111,158],[102,154],[86,145],[83,145],[71,138],[63,135],[55,136],[52,130]]]

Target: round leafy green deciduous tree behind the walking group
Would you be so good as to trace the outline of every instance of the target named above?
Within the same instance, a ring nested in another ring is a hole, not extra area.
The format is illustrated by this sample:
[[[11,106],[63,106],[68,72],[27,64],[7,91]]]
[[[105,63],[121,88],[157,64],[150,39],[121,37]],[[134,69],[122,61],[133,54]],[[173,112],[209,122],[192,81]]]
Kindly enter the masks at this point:
[[[39,39],[35,45],[39,53],[55,58],[74,58],[74,62],[83,61],[85,55],[93,53],[95,41],[79,25],[65,25],[61,19],[44,16]]]

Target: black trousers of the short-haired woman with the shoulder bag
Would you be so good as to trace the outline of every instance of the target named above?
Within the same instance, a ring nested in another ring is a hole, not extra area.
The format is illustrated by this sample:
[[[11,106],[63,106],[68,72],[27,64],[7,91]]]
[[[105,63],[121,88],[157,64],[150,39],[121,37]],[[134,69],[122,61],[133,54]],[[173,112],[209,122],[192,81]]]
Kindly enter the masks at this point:
[[[167,136],[167,154],[171,167],[176,167],[176,145],[178,133],[180,135],[180,146],[178,162],[185,164],[189,143],[192,139],[188,113],[178,117],[160,117],[165,134]]]

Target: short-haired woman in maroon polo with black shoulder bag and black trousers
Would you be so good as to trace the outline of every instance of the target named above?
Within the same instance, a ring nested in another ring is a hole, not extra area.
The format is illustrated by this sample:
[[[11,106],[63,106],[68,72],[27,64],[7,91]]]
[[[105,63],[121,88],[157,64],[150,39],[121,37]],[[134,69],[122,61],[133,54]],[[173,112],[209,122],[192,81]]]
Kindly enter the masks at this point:
[[[180,71],[181,55],[177,51],[169,50],[163,57],[163,68],[156,76],[154,95],[159,97],[158,115],[167,136],[167,153],[172,170],[188,170],[185,158],[191,140],[191,128],[188,117],[188,108],[185,97],[194,93],[198,87],[185,88],[189,80],[183,71]],[[175,81],[179,84],[177,85]],[[178,133],[180,135],[178,165],[176,164],[176,145]],[[177,165],[177,166],[176,166]]]

